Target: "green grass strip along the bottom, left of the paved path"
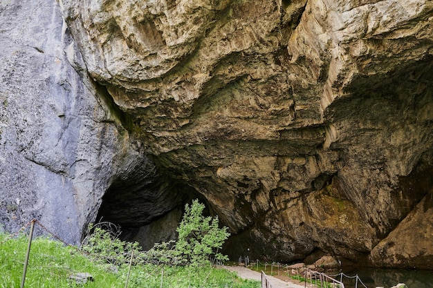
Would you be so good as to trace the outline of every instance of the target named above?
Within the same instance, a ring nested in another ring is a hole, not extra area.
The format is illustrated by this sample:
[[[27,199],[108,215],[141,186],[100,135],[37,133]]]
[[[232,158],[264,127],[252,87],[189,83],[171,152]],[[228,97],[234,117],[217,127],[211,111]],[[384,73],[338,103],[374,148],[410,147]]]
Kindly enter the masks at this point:
[[[24,268],[24,258],[28,244],[27,236],[9,239],[0,233],[0,287],[19,287]],[[74,247],[50,240],[35,238],[30,250],[30,258],[25,287],[125,287],[127,265],[117,267],[113,272],[110,265],[93,262]],[[94,282],[77,285],[68,280],[73,273],[90,273]],[[234,273],[214,267],[169,267],[161,265],[136,265],[131,269],[128,287],[160,288],[178,287],[221,287],[259,288],[260,283],[242,280]]]

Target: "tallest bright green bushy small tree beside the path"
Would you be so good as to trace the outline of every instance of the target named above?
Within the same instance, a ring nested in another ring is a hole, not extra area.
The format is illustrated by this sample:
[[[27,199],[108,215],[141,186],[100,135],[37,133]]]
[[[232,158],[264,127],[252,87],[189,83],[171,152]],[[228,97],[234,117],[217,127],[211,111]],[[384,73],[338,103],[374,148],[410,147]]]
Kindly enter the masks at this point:
[[[218,217],[205,217],[205,205],[194,200],[191,207],[185,205],[185,214],[176,231],[178,240],[175,251],[185,260],[187,265],[205,265],[210,260],[224,261],[227,256],[219,253],[230,233],[227,227],[219,228]]]

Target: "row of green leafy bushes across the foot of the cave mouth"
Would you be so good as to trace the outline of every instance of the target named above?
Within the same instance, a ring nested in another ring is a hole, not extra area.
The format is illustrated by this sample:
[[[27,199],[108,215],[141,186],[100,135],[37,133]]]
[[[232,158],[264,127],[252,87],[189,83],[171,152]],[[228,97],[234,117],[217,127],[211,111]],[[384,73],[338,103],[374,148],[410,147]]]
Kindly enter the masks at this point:
[[[131,251],[134,251],[135,263],[154,265],[192,265],[195,267],[208,265],[214,261],[228,260],[219,253],[230,233],[227,227],[219,228],[217,217],[205,217],[205,205],[194,200],[185,205],[185,214],[176,231],[177,241],[156,243],[149,251],[140,251],[137,242],[124,242],[118,236],[120,229],[103,222],[90,226],[83,251],[90,253],[102,262],[121,265],[129,262]],[[104,229],[102,229],[102,227]]]

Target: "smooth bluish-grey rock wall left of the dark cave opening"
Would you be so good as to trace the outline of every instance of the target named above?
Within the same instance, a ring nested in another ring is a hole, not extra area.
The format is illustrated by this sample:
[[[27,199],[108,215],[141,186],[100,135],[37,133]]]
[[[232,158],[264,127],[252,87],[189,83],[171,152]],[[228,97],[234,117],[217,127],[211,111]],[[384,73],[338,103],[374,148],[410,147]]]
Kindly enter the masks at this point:
[[[87,76],[57,2],[1,1],[0,23],[1,226],[15,232],[36,218],[80,243],[112,183],[137,167],[148,167],[140,180],[158,175]]]

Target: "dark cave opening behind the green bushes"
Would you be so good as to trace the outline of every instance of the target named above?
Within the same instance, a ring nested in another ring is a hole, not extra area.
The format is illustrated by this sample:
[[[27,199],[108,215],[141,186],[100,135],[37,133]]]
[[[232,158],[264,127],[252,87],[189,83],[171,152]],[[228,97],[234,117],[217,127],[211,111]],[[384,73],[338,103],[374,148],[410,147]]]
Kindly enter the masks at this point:
[[[165,177],[122,177],[104,194],[96,220],[120,226],[122,240],[147,250],[176,238],[183,207],[195,195],[190,186]]]

